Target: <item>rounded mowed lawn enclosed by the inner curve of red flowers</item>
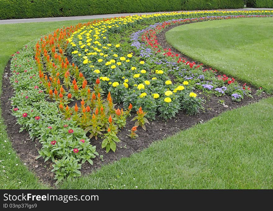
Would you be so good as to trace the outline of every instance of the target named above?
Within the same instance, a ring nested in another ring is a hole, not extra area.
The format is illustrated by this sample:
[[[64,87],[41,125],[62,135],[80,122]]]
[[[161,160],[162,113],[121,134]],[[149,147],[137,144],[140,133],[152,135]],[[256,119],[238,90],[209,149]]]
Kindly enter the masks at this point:
[[[273,92],[273,18],[212,20],[166,33],[173,47],[256,87]]]

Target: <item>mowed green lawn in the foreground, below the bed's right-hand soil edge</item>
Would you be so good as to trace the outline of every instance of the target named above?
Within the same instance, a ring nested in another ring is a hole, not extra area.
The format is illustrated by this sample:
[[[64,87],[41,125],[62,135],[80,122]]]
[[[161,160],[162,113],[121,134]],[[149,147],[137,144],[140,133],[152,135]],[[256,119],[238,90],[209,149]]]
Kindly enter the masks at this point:
[[[228,111],[63,189],[273,188],[273,98]]]

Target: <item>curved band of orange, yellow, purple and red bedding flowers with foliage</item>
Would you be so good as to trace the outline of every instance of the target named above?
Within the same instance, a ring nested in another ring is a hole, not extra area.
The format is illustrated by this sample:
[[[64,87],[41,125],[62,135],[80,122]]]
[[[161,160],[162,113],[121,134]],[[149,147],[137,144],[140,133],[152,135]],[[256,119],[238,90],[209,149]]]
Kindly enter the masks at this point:
[[[240,87],[226,75],[215,77],[216,71],[204,70],[202,64],[163,49],[156,38],[171,24],[272,16],[269,11],[248,13],[129,16],[57,29],[13,55],[13,114],[21,129],[28,130],[31,137],[38,137],[43,144],[39,154],[52,160],[58,181],[80,176],[81,163],[92,164],[98,155],[90,138],[102,137],[102,148],[115,151],[117,132],[125,127],[132,109],[137,110],[130,134],[135,138],[137,126],[145,129],[146,118],[155,119],[156,114],[164,119],[181,109],[196,114],[202,108],[202,99],[195,89],[217,96],[229,94],[235,101],[251,97],[247,86]],[[211,14],[214,16],[197,18]],[[141,25],[150,26],[133,33],[130,45],[109,42],[115,34],[128,33]],[[123,102],[125,109],[115,109],[115,102]]]

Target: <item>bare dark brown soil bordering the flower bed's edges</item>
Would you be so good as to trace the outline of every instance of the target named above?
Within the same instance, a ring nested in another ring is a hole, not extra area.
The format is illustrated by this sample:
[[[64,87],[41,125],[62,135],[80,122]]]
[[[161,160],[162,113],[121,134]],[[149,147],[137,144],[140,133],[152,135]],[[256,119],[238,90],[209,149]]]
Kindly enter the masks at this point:
[[[181,53],[172,48],[165,39],[165,32],[173,27],[175,26],[166,28],[163,32],[157,35],[157,38],[159,43],[164,48],[171,48],[172,52],[176,52],[181,55]],[[181,55],[181,57],[185,57],[188,61],[192,61],[185,55]],[[195,62],[198,63],[197,61]],[[38,142],[38,139],[34,139],[34,141],[32,141],[29,137],[29,133],[26,130],[19,133],[20,125],[16,124],[16,117],[11,115],[12,107],[11,101],[9,99],[13,96],[14,90],[9,83],[8,78],[10,75],[11,72],[9,62],[3,73],[1,95],[2,116],[4,118],[5,124],[7,125],[8,137],[10,138],[12,146],[16,150],[17,155],[19,155],[20,159],[29,168],[29,170],[34,172],[35,175],[39,177],[40,181],[48,183],[54,188],[54,183],[56,180],[54,180],[54,173],[51,172],[52,162],[44,162],[43,158],[35,159],[36,156],[38,156],[38,150],[41,149],[42,145]],[[245,97],[241,102],[232,101],[230,96],[211,96],[208,98],[207,96],[202,96],[199,94],[199,97],[204,97],[206,99],[206,103],[204,104],[204,111],[200,110],[200,113],[195,116],[188,116],[184,111],[179,111],[175,118],[169,119],[167,121],[157,117],[157,119],[150,122],[150,124],[146,124],[146,131],[140,127],[138,128],[137,134],[139,137],[136,139],[131,139],[127,136],[127,134],[130,133],[130,129],[134,126],[134,122],[130,122],[131,119],[128,119],[126,128],[123,128],[118,133],[120,143],[117,143],[116,152],[110,151],[106,154],[105,149],[101,149],[101,139],[95,140],[93,138],[91,140],[92,145],[96,146],[96,151],[100,155],[103,155],[103,159],[101,159],[100,156],[97,156],[95,159],[93,159],[93,165],[90,165],[88,162],[83,164],[81,168],[82,174],[84,175],[91,173],[100,168],[102,165],[114,162],[123,157],[129,157],[131,154],[147,148],[153,141],[172,136],[173,134],[190,128],[195,124],[204,123],[224,111],[245,106],[250,103],[257,102],[262,98],[269,97],[269,95],[266,93],[262,93],[261,96],[257,96],[255,94],[256,89],[252,86],[250,87],[252,88],[253,99]],[[223,105],[219,104],[218,100],[224,100],[226,106],[224,107]]]

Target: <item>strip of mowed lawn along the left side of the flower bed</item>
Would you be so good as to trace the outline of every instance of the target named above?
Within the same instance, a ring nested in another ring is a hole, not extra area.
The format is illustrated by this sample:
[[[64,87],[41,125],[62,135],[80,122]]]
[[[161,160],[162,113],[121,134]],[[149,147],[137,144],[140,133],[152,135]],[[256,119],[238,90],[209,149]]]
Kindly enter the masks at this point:
[[[87,21],[74,20],[0,25],[0,48],[2,49],[0,54],[0,93],[2,93],[3,70],[11,54],[20,51],[26,43],[39,38],[40,35],[47,34],[59,27],[76,25]],[[0,112],[0,189],[48,188],[47,185],[38,182],[38,177],[29,172],[16,155],[11,146],[11,141],[7,137],[6,125],[3,123],[1,114],[2,110]]]

